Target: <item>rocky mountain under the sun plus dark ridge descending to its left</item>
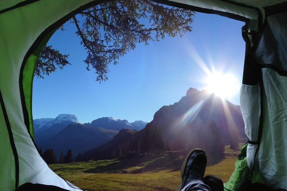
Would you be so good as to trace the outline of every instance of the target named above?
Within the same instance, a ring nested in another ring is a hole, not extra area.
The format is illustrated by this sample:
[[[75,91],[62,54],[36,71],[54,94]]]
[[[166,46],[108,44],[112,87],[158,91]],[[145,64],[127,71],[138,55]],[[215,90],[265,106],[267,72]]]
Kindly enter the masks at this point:
[[[194,88],[190,88],[179,102],[160,108],[154,114],[149,126],[160,127],[170,149],[176,149],[178,142],[183,142],[183,144],[195,142],[196,144],[204,141],[200,140],[200,137],[204,133],[210,133],[202,132],[203,129],[205,129],[203,131],[208,130],[204,126],[210,123],[209,121],[216,124],[218,133],[221,134],[217,136],[222,136],[224,140],[230,139],[230,132],[233,130],[239,137],[245,136],[243,117],[238,105],[222,100],[207,91],[198,91]],[[124,144],[126,137],[135,141],[144,134],[144,131],[145,128],[137,132],[122,129],[114,139],[84,153],[83,157],[85,160],[108,159],[118,145]],[[200,133],[197,135],[198,132]],[[133,150],[137,149],[133,147]]]

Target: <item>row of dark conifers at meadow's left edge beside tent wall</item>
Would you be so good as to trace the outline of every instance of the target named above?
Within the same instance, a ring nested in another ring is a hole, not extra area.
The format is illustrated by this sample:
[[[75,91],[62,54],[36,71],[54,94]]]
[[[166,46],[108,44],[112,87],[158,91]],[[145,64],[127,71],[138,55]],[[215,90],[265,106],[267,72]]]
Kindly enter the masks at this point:
[[[55,164],[55,163],[67,164],[67,163],[72,163],[72,162],[82,162],[83,161],[81,153],[79,153],[77,155],[77,157],[75,158],[75,160],[74,160],[72,149],[69,149],[67,151],[66,155],[64,155],[64,152],[62,151],[58,161],[57,161],[56,154],[55,154],[55,152],[54,152],[54,150],[52,148],[47,148],[44,151],[44,153],[43,153],[43,149],[40,148],[40,154],[43,157],[44,161],[48,165],[49,164]]]

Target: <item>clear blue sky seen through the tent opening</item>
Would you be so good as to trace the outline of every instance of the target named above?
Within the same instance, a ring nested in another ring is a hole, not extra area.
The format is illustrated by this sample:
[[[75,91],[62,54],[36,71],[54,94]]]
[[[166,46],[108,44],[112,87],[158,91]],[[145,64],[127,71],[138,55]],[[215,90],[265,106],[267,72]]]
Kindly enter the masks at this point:
[[[97,75],[85,69],[86,51],[74,34],[76,28],[65,24],[66,30],[56,31],[48,45],[69,54],[72,65],[44,79],[34,78],[33,118],[73,113],[81,123],[111,116],[150,122],[157,110],[179,101],[190,87],[204,89],[206,68],[236,77],[234,96],[227,100],[239,105],[245,52],[243,25],[230,18],[196,13],[192,32],[148,46],[137,44],[118,65],[109,66],[109,79],[99,84],[95,82]]]

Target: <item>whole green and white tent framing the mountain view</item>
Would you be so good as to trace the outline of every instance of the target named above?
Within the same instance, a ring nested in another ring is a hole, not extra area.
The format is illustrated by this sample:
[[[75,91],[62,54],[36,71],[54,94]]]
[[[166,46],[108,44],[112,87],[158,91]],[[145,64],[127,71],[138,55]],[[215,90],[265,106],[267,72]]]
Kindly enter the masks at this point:
[[[33,72],[35,61],[53,32],[77,12],[102,2],[0,2],[1,191],[41,185],[51,185],[47,190],[79,190],[49,169],[35,145],[31,111]],[[225,190],[244,190],[247,183],[257,188],[260,183],[287,189],[287,1],[155,2],[246,23],[242,28],[246,54],[240,107],[249,141],[224,186]]]

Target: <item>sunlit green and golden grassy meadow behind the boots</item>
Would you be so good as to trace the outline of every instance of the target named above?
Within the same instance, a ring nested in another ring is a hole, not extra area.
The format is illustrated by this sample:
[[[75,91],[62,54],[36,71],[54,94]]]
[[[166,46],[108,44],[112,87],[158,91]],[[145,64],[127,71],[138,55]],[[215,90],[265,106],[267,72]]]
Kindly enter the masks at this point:
[[[206,167],[206,175],[214,174],[228,181],[234,170],[238,151],[225,149],[225,158]],[[180,183],[184,152],[168,152],[164,156],[144,156],[116,161],[90,161],[49,165],[58,175],[81,189],[91,190],[175,190]]]

